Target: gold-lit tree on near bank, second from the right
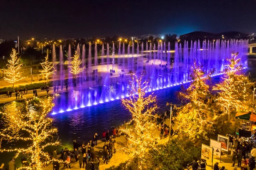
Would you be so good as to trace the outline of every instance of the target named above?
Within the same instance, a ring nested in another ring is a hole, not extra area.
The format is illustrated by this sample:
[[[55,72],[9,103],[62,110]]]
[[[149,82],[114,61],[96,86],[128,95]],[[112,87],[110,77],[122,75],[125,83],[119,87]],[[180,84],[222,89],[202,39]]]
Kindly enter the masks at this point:
[[[207,134],[212,132],[212,112],[204,102],[209,95],[209,85],[207,79],[215,69],[206,74],[202,65],[194,66],[190,69],[189,80],[191,84],[184,93],[179,96],[185,99],[186,103],[177,108],[178,130],[189,139],[207,139]]]

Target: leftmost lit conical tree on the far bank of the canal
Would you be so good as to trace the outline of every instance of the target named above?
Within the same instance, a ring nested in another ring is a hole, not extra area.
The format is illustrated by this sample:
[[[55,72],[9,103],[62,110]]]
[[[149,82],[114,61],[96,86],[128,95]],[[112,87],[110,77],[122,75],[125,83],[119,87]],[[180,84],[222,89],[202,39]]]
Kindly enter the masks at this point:
[[[20,62],[20,58],[17,57],[17,52],[14,48],[12,48],[12,52],[10,54],[11,59],[8,59],[8,64],[6,65],[6,77],[4,80],[6,82],[12,83],[12,88],[14,89],[14,83],[24,79],[26,77],[22,76],[23,72],[20,72],[22,68],[22,64]]]

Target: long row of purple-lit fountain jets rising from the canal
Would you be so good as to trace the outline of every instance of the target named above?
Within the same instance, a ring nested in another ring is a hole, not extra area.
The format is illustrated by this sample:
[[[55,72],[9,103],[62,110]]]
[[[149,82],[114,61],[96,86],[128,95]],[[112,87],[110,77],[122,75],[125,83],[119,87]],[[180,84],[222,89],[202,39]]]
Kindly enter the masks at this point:
[[[87,81],[86,86],[80,85],[78,89],[74,89],[72,85],[73,75],[68,73],[68,85],[71,88],[69,94],[61,94],[61,102],[55,106],[54,111],[56,113],[63,113],[64,111],[72,111],[78,108],[89,107],[91,105],[98,105],[100,103],[109,102],[112,100],[124,98],[128,96],[128,84],[129,80],[128,72],[140,72],[145,70],[147,75],[145,78],[150,78],[150,85],[153,91],[162,88],[169,88],[172,86],[180,85],[188,81],[189,69],[194,62],[203,65],[203,69],[207,72],[212,68],[215,68],[214,76],[219,75],[224,69],[224,65],[227,64],[226,58],[230,57],[232,51],[238,51],[241,55],[241,63],[245,66],[244,57],[247,52],[245,45],[248,44],[247,40],[216,40],[213,42],[202,41],[200,42],[188,42],[175,43],[175,49],[171,50],[171,44],[168,42],[159,42],[158,44],[139,44],[136,43],[137,48],[132,42],[132,49],[128,45],[125,54],[125,43],[119,42],[117,54],[115,54],[115,44],[112,45],[112,53],[110,54],[109,45],[105,48],[102,45],[101,55],[98,57],[97,45],[95,44],[94,50],[94,62],[92,62],[91,44],[89,44],[87,68],[88,72],[84,71],[80,77],[87,77],[84,81]],[[144,46],[145,45],[145,46]],[[157,45],[157,47],[156,47]],[[153,48],[153,49],[152,49]],[[145,49],[145,51],[144,51]],[[79,45],[77,50],[80,51]],[[130,51],[131,50],[131,51]],[[136,54],[135,54],[136,50]],[[52,60],[56,61],[56,54],[54,54],[55,46],[52,50]],[[70,64],[71,48],[69,46],[68,62]],[[101,58],[100,64],[98,58]],[[112,62],[114,59],[114,62]],[[85,65],[85,47],[83,45],[81,54],[82,66]],[[62,47],[60,47],[60,73],[64,73],[64,61]],[[98,65],[101,65],[99,67]],[[121,67],[120,67],[121,66]],[[110,69],[115,70],[110,74]],[[101,81],[96,79],[92,75],[93,69],[99,69],[98,76],[102,77]],[[122,70],[121,70],[122,69]],[[68,68],[67,71],[70,71]],[[57,72],[59,74],[59,72]],[[56,75],[60,77],[60,82],[65,82],[65,75]],[[123,79],[125,77],[125,79]],[[97,81],[97,82],[96,82]],[[110,92],[110,88],[112,88]],[[116,90],[115,90],[116,89]],[[77,93],[79,91],[79,93]],[[76,93],[76,94],[75,94]],[[74,95],[75,94],[75,95]]]

